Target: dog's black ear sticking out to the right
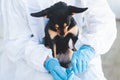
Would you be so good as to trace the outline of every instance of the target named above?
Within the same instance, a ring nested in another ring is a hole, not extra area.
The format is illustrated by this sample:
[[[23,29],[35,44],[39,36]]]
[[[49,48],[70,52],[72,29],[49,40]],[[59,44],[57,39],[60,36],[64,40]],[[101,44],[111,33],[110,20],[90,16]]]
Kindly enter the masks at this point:
[[[78,7],[74,7],[74,6],[68,6],[69,14],[82,13],[82,12],[86,11],[87,9],[88,8],[78,8]]]

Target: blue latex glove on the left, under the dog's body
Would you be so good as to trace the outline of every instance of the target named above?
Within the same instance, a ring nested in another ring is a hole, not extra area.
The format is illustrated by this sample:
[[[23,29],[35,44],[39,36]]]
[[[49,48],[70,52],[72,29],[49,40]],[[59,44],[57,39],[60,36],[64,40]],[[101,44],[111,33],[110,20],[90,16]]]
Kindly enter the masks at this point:
[[[52,74],[54,80],[67,80],[67,73],[56,58],[48,59],[45,68]]]

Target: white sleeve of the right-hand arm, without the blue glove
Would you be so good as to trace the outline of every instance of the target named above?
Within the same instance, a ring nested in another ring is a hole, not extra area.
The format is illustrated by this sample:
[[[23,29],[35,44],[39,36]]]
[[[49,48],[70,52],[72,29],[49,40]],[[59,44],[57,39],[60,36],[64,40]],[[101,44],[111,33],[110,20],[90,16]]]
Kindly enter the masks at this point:
[[[96,54],[106,53],[116,38],[115,15],[106,0],[86,0],[86,26],[83,28],[78,44],[92,46]]]

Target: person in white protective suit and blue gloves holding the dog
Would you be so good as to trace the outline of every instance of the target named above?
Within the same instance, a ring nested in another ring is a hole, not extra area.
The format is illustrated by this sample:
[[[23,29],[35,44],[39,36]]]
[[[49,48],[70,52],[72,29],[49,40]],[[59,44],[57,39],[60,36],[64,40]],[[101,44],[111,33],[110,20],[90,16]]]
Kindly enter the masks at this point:
[[[88,7],[86,12],[74,15],[82,33],[75,45],[78,51],[72,57],[70,75],[43,44],[48,19],[30,16],[58,1]],[[0,10],[5,42],[0,80],[71,80],[76,73],[78,79],[72,80],[106,80],[101,55],[116,38],[115,15],[106,0],[0,0]]]

